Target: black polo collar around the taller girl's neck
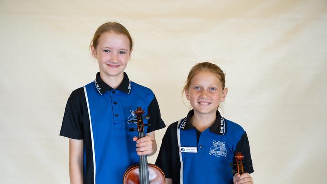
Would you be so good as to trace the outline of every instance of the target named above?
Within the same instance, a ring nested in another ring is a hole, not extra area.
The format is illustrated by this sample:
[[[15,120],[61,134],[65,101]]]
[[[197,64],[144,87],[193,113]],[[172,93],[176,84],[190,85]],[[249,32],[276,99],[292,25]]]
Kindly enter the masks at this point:
[[[104,81],[100,78],[100,72],[97,73],[96,79],[94,80],[94,85],[97,88],[98,92],[102,95],[106,93],[109,90],[113,90],[112,87],[107,85]],[[132,89],[131,81],[129,80],[127,74],[124,72],[124,78],[121,84],[116,88],[116,90],[120,90],[122,92],[125,92],[127,94],[130,93]]]

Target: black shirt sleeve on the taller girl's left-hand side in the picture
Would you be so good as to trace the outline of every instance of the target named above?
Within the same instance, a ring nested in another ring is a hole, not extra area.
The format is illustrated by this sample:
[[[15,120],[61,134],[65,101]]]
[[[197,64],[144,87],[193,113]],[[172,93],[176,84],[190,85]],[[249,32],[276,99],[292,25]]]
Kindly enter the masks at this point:
[[[60,135],[72,139],[84,139],[83,103],[86,104],[83,88],[74,90],[68,98],[63,115]]]

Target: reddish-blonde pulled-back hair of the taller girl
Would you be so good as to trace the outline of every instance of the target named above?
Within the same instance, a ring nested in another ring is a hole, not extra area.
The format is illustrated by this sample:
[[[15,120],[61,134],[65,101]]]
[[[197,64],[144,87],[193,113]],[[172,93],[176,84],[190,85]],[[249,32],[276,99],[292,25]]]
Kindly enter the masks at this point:
[[[114,32],[117,34],[123,34],[126,35],[129,39],[129,50],[131,51],[133,48],[133,39],[131,35],[129,34],[128,30],[121,24],[117,22],[107,22],[101,25],[97,31],[94,33],[93,39],[91,41],[91,45],[94,47],[94,49],[98,46],[98,39],[102,35],[102,33],[105,32]]]

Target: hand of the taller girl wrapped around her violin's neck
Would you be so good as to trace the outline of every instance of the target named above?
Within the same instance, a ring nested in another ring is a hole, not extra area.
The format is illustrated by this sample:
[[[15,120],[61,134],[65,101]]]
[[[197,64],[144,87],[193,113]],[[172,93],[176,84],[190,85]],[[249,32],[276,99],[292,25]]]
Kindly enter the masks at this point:
[[[153,153],[153,141],[149,135],[140,139],[133,137],[133,141],[136,141],[136,153],[138,155],[151,155]]]

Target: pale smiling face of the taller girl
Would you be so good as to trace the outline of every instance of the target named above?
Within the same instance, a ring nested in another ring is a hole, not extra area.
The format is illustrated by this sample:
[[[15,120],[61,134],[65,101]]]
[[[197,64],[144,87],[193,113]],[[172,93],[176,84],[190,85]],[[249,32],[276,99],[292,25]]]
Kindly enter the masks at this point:
[[[130,59],[129,39],[126,35],[114,32],[102,33],[97,48],[91,46],[92,56],[97,59],[100,75],[122,77]]]

